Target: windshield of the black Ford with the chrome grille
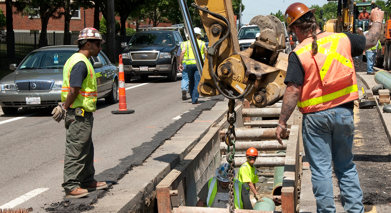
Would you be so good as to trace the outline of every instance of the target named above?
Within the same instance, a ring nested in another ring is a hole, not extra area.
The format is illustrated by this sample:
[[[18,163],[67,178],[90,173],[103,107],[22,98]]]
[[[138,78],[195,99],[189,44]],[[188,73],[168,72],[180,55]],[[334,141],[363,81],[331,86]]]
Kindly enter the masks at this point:
[[[170,33],[136,33],[129,41],[131,45],[173,45],[174,38]]]

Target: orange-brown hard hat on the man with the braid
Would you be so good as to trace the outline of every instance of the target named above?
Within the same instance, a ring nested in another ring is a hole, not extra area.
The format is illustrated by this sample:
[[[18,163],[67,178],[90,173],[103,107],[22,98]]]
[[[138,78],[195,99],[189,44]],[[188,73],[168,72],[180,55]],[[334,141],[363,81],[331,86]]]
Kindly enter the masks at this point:
[[[295,21],[296,23],[308,21],[314,15],[315,11],[316,8],[308,9],[303,3],[296,2],[287,7],[287,10],[285,11],[285,21],[288,26],[291,26]]]

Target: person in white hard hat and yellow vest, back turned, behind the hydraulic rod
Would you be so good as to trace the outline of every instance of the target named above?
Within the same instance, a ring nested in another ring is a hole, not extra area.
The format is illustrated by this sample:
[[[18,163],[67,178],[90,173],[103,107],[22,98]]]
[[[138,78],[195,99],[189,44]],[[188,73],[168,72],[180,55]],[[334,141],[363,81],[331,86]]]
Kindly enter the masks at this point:
[[[201,37],[201,29],[198,27],[194,28],[195,35],[197,36],[197,43],[199,46],[199,49],[201,50],[202,58],[205,58],[206,54],[206,46],[205,42],[200,40]],[[182,72],[183,71],[183,65],[182,60],[185,60],[186,62],[186,71],[189,78],[189,93],[190,97],[192,98],[192,104],[199,104],[198,98],[198,84],[201,80],[201,76],[199,74],[199,71],[197,69],[197,64],[195,62],[195,56],[192,50],[192,46],[190,44],[190,40],[187,40],[181,44],[181,56],[178,60],[178,69]],[[186,93],[185,93],[186,95]],[[182,89],[182,98],[183,98],[183,89]]]

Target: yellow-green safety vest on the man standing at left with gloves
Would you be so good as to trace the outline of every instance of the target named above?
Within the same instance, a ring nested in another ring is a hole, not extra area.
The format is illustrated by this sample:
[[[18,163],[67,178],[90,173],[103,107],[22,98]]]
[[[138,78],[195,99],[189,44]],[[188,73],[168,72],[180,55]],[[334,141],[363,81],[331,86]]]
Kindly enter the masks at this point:
[[[72,55],[64,65],[63,70],[63,88],[61,90],[61,101],[65,102],[66,96],[69,92],[69,77],[72,67],[77,62],[84,62],[87,65],[88,75],[86,79],[84,79],[83,84],[81,85],[81,89],[79,90],[79,94],[77,95],[74,102],[70,105],[70,108],[82,107],[87,112],[95,112],[97,110],[97,79],[95,76],[95,71],[92,67],[90,61],[81,53],[75,53]]]

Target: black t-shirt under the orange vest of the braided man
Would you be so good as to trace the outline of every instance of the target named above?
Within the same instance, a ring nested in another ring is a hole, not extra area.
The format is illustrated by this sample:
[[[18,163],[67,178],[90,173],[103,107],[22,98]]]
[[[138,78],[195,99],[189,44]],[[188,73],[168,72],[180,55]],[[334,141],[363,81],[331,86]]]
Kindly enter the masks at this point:
[[[324,31],[320,33],[323,32]],[[318,33],[318,35],[320,33]],[[356,35],[353,33],[346,33],[346,32],[344,33],[348,36],[350,40],[350,49],[351,49],[352,57],[360,56],[365,48],[365,44],[366,44],[365,36]],[[284,83],[288,84],[288,82],[295,83],[300,86],[302,86],[304,82],[304,68],[303,65],[301,65],[299,56],[295,52],[292,52],[289,55],[287,76],[285,77]],[[347,104],[349,105],[348,108],[353,108],[353,102],[348,102]]]

